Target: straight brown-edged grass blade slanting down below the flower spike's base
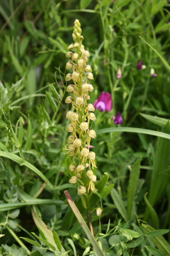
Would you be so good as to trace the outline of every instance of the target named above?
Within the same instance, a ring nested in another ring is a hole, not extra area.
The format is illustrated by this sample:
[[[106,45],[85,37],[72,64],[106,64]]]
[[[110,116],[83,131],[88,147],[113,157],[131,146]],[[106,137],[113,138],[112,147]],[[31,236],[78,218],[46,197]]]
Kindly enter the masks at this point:
[[[73,210],[76,218],[78,219],[78,222],[82,226],[82,229],[84,229],[86,236],[88,237],[89,241],[91,241],[91,244],[94,247],[97,256],[104,256],[103,251],[100,249],[99,245],[97,244],[95,237],[92,236],[92,233],[90,232],[88,226],[86,225],[84,218],[82,218],[81,213],[78,211],[78,208],[75,205],[73,199],[70,197],[70,194],[68,193],[67,190],[64,191],[64,194],[66,195],[68,204],[70,204],[70,207]]]

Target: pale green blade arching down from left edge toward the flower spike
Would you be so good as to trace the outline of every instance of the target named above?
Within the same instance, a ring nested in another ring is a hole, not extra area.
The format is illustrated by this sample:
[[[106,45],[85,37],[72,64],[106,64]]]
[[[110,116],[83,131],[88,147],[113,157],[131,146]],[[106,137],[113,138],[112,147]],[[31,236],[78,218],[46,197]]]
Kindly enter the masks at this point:
[[[53,185],[49,182],[49,180],[44,176],[44,174],[42,174],[42,172],[40,172],[40,170],[38,170],[34,165],[31,165],[31,163],[29,163],[27,161],[23,162],[22,159],[18,155],[15,155],[13,153],[6,152],[6,151],[0,151],[0,157],[6,157],[6,158],[11,159],[12,161],[19,163],[20,165],[27,166],[28,168],[33,170],[33,172],[35,172],[39,177],[41,177],[49,185],[50,189],[53,190]],[[0,207],[1,207],[1,205],[0,205]]]

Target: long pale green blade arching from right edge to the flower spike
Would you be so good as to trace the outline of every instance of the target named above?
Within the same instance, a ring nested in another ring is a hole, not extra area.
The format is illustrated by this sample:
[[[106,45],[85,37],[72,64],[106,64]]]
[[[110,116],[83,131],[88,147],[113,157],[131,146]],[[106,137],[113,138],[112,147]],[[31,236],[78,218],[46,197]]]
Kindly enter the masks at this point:
[[[170,140],[170,135],[167,133],[161,133],[161,131],[153,131],[153,130],[148,130],[148,129],[132,128],[132,127],[106,128],[106,129],[98,130],[96,132],[96,134],[113,133],[113,132],[122,133],[123,131],[128,132],[128,133],[144,133],[144,134],[149,134],[149,135],[158,136],[158,137],[162,137],[162,138],[168,138],[168,140]]]

